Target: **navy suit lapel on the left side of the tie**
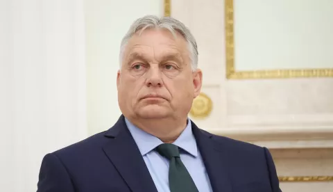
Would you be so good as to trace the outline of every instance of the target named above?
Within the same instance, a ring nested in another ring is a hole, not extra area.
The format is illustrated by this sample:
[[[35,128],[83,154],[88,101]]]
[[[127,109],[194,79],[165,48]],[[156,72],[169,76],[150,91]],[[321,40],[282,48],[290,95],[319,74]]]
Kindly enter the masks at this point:
[[[130,189],[135,192],[157,192],[123,115],[114,127],[106,131],[105,136],[110,137],[110,141],[103,147],[103,150]]]

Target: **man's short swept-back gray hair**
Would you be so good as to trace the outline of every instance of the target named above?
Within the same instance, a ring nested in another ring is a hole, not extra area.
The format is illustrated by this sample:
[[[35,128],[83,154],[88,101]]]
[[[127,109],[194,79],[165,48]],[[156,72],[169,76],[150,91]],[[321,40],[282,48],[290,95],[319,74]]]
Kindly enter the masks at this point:
[[[174,19],[172,17],[156,17],[153,15],[146,15],[145,17],[141,17],[130,26],[130,29],[126,33],[126,35],[121,40],[121,47],[120,47],[120,55],[119,61],[120,66],[123,59],[123,51],[126,47],[128,40],[135,34],[137,31],[144,31],[145,29],[167,29],[169,30],[173,36],[176,38],[176,32],[180,33],[183,38],[188,42],[188,48],[190,53],[190,60],[191,60],[191,68],[192,70],[196,70],[198,67],[198,47],[196,45],[196,40],[194,36],[191,34],[189,29],[182,24],[182,22]]]

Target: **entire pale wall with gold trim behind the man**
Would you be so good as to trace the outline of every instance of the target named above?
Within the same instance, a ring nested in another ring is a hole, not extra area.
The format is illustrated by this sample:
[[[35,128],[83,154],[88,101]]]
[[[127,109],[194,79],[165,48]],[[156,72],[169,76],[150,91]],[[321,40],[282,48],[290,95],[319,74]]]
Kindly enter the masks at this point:
[[[199,127],[268,147],[282,191],[332,191],[331,0],[0,0],[0,191],[36,191],[45,154],[117,121],[121,38],[144,15],[196,37]]]

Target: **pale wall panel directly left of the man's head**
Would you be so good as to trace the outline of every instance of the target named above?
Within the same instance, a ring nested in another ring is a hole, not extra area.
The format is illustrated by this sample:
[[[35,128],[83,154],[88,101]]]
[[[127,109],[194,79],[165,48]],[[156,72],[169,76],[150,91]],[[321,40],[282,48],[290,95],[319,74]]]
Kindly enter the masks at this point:
[[[163,0],[85,0],[85,13],[88,130],[96,134],[121,115],[116,86],[121,38],[135,19],[162,16]]]

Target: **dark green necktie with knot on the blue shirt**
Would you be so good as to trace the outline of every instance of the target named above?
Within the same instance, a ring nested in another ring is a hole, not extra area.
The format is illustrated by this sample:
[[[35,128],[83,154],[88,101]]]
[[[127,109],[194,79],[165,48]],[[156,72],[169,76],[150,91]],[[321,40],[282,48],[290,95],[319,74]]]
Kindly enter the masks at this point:
[[[196,192],[191,175],[180,160],[177,145],[164,143],[157,147],[157,152],[170,160],[169,163],[169,187],[171,192]]]

